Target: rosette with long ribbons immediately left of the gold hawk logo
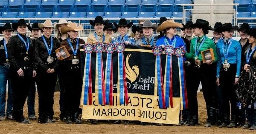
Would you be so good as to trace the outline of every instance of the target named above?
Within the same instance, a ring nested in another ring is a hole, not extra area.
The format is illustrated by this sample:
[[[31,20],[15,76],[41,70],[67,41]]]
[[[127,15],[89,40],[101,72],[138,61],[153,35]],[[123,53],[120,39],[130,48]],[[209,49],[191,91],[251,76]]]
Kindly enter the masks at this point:
[[[125,45],[123,43],[117,43],[115,49],[118,53],[117,100],[120,101],[120,104],[128,104],[128,89],[126,84],[125,60],[123,55]]]

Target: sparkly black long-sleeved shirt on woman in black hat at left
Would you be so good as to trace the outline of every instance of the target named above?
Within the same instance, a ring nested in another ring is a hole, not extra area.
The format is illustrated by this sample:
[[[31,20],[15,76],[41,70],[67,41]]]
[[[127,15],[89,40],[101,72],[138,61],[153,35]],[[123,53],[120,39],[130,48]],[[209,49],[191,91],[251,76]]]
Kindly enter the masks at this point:
[[[15,70],[19,70],[20,67],[32,67],[32,69],[35,70],[34,46],[32,45],[32,40],[29,37],[26,38],[26,35],[20,34],[20,36],[25,40],[26,43],[27,38],[29,39],[29,53],[26,54],[26,46],[17,35],[10,37],[7,48],[11,67],[14,67]],[[29,60],[25,61],[25,57],[28,57]]]

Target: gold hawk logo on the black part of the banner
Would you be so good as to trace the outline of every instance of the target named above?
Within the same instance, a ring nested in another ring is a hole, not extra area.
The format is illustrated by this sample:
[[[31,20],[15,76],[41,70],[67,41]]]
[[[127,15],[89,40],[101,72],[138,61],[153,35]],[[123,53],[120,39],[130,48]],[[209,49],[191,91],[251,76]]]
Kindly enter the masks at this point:
[[[137,65],[130,67],[128,62],[130,59],[130,56],[131,54],[128,54],[128,56],[125,59],[125,74],[126,74],[126,78],[128,78],[132,83],[138,78],[140,70]]]

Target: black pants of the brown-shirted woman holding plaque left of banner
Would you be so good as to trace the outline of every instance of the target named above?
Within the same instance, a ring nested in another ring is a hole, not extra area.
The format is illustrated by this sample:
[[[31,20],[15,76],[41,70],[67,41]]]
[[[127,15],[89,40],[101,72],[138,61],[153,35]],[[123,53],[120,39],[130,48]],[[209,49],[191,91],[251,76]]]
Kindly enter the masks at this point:
[[[64,104],[66,117],[73,117],[79,110],[82,77],[80,64],[67,64],[64,67]]]

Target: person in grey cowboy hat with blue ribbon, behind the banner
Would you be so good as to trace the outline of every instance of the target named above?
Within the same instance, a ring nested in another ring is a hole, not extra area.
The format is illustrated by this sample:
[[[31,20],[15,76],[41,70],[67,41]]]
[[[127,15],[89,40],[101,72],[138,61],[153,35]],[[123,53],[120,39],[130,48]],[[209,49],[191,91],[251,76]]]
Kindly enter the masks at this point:
[[[150,20],[145,20],[143,25],[138,25],[143,31],[143,37],[135,45],[153,47],[157,43],[157,36],[153,36],[153,31],[157,30],[158,24],[153,24]]]

